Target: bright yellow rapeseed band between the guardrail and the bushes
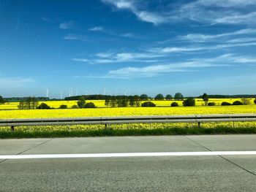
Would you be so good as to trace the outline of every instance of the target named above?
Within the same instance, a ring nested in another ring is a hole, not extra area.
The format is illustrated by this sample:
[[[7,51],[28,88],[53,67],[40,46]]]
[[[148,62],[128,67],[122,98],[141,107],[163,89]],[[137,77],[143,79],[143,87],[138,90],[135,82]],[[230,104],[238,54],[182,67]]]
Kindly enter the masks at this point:
[[[255,113],[256,105],[214,107],[116,107],[95,109],[0,110],[1,119],[9,118],[72,118],[127,115],[193,115]]]

